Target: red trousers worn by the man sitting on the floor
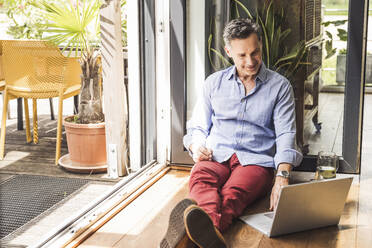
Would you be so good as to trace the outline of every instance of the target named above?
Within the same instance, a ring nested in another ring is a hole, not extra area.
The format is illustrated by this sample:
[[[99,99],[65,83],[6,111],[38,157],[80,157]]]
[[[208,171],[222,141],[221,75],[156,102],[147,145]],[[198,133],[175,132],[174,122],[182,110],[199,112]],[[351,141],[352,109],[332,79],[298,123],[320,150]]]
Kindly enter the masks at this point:
[[[273,176],[273,168],[242,166],[236,154],[223,163],[201,161],[191,171],[189,197],[224,232],[249,204],[271,190]]]

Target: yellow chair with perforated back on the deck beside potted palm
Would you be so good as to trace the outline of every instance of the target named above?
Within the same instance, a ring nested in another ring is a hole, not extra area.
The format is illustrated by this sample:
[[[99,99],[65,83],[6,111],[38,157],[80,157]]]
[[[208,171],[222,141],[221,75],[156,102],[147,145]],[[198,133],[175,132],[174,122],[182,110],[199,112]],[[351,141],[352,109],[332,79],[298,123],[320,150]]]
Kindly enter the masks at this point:
[[[76,58],[62,55],[46,41],[2,41],[5,76],[4,108],[1,123],[0,159],[4,158],[8,102],[24,98],[26,139],[31,142],[28,99],[33,103],[33,141],[38,143],[37,99],[58,97],[58,126],[55,164],[61,156],[63,100],[80,92],[81,68]]]

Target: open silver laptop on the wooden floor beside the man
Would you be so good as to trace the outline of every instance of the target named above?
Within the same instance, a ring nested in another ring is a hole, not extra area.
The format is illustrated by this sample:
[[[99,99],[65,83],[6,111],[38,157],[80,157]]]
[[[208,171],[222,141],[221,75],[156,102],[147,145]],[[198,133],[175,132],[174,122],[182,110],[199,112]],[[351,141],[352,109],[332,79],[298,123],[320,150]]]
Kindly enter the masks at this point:
[[[240,219],[269,237],[337,225],[352,177],[284,186],[274,212]]]

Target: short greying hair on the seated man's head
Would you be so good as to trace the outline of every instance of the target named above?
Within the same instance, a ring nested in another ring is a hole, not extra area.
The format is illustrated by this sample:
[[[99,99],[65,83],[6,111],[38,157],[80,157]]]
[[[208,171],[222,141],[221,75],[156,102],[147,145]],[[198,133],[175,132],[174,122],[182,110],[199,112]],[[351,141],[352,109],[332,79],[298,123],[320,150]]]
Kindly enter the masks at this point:
[[[223,31],[223,40],[226,46],[234,39],[245,39],[251,34],[256,34],[261,41],[261,28],[253,20],[248,18],[239,18],[230,21]]]

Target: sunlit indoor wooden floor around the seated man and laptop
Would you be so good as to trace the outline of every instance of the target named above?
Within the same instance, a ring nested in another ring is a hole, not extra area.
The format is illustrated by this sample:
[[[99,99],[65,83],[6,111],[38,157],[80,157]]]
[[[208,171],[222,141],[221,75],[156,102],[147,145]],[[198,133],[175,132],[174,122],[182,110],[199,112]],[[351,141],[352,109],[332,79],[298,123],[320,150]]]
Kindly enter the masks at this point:
[[[79,247],[157,247],[166,231],[172,207],[187,196],[188,176],[189,172],[171,170]],[[371,187],[371,171],[356,176],[338,227],[267,238],[237,220],[224,234],[225,239],[231,248],[372,247]],[[266,197],[248,208],[246,213],[264,212],[268,206],[269,198]]]

